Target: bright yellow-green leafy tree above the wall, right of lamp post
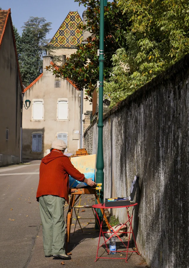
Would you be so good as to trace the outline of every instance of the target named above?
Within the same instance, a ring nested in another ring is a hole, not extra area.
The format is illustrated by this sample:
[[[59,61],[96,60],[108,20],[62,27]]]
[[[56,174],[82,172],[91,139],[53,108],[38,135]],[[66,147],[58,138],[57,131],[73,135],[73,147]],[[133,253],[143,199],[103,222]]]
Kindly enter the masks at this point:
[[[105,93],[111,106],[146,84],[189,52],[189,7],[186,0],[119,0],[131,22],[127,49],[113,55]]]

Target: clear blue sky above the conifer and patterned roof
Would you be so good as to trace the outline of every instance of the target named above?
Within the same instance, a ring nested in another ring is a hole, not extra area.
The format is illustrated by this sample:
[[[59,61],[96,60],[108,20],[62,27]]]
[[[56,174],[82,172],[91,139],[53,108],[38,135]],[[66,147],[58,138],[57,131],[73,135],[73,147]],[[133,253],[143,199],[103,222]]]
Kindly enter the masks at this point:
[[[82,17],[85,8],[74,0],[6,0],[0,3],[4,10],[11,9],[12,23],[22,33],[22,26],[29,17],[45,17],[47,22],[52,22],[52,30],[47,38],[53,38],[69,11],[78,11]]]

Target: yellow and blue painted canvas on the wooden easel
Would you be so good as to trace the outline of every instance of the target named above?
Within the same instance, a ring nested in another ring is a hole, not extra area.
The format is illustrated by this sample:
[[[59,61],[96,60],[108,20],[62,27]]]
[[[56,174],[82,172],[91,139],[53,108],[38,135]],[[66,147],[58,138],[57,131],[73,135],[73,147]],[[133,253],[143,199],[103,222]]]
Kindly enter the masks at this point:
[[[94,173],[95,173],[95,160],[96,155],[84,155],[79,157],[72,157],[71,163],[77,168],[81,173],[85,175],[85,178],[92,178],[94,181]],[[84,182],[79,182],[69,176],[69,187],[85,187],[87,186]]]

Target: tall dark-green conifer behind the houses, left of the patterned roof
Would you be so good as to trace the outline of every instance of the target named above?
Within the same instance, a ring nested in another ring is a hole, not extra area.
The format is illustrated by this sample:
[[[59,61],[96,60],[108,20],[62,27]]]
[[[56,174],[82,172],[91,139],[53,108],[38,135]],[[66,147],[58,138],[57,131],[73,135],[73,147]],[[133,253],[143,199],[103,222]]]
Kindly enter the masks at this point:
[[[27,86],[43,72],[42,57],[47,51],[54,62],[60,58],[54,55],[56,47],[50,46],[50,40],[46,38],[50,26],[51,22],[46,22],[44,17],[30,17],[22,27],[22,36],[13,27],[22,82]]]

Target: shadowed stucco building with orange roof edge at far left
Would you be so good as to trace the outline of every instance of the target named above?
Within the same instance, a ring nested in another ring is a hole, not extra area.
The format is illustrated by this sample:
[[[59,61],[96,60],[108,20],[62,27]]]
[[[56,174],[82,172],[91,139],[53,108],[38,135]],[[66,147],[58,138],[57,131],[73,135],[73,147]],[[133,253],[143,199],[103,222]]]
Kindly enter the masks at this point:
[[[22,81],[11,11],[0,10],[0,166],[20,163]]]

